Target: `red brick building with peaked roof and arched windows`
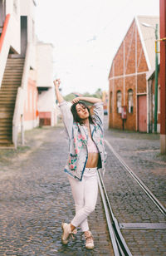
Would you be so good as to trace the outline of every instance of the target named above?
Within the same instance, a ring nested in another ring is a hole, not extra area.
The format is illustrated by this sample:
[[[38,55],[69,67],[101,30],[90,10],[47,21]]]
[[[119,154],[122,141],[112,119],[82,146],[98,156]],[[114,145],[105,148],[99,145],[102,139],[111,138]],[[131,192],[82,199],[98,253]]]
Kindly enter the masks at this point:
[[[134,17],[115,54],[109,75],[110,128],[149,131],[146,76],[155,66],[156,24],[159,17]]]

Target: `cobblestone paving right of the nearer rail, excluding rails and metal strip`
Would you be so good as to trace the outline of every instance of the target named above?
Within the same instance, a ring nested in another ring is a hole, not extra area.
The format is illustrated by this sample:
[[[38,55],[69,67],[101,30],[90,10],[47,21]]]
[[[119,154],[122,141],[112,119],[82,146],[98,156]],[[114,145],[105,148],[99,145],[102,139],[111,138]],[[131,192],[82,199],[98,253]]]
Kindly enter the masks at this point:
[[[105,138],[165,205],[166,157],[159,154],[159,135],[105,130]],[[105,186],[119,223],[164,223],[164,214],[144,193],[115,155],[108,151]],[[122,229],[133,255],[165,255],[166,229]]]

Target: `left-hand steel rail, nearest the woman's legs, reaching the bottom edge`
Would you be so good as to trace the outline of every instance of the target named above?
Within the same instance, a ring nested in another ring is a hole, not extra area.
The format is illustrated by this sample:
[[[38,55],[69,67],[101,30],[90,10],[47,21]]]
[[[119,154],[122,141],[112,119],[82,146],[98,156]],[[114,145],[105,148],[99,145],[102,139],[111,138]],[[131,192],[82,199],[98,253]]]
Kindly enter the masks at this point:
[[[106,217],[106,221],[107,221],[107,225],[110,233],[110,239],[114,249],[114,254],[115,256],[132,256],[127,244],[125,243],[125,239],[123,238],[120,232],[120,226],[118,224],[118,221],[117,219],[115,219],[115,215],[113,214],[113,211],[111,209],[110,201],[106,193],[105,185],[99,170],[97,172],[97,175],[98,175],[98,184],[100,188],[100,195],[101,195],[102,202],[105,209],[105,217]]]

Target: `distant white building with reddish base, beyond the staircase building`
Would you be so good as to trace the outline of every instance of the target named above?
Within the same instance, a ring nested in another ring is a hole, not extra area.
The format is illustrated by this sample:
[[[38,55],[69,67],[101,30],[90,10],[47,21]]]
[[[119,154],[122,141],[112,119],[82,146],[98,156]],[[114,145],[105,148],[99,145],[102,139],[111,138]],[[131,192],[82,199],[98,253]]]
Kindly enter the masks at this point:
[[[53,85],[53,50],[51,43],[37,42],[37,110],[40,126],[55,126],[57,106]]]

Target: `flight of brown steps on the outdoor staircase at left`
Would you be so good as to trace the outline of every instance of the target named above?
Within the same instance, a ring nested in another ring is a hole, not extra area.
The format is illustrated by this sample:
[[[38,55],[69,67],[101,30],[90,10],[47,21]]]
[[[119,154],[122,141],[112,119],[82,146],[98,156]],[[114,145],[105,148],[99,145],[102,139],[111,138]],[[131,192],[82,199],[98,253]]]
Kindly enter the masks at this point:
[[[21,86],[24,58],[8,58],[0,87],[0,147],[14,147],[12,118],[17,88]]]

